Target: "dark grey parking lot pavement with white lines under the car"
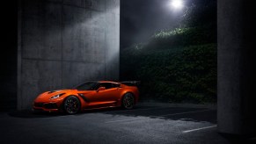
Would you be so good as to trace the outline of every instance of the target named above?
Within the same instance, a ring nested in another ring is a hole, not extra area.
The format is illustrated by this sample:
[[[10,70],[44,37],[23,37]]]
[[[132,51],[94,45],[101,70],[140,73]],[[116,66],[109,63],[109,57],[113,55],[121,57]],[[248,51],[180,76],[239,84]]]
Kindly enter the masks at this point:
[[[2,112],[0,143],[253,143],[216,132],[216,109],[140,104],[63,113]]]

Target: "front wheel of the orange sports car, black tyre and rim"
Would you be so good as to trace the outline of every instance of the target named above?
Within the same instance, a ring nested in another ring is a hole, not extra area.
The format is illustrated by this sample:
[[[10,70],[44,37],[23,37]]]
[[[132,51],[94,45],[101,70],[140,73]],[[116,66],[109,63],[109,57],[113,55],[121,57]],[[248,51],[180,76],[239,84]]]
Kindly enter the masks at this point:
[[[64,100],[63,110],[68,114],[76,114],[79,112],[81,103],[75,96],[69,96]]]

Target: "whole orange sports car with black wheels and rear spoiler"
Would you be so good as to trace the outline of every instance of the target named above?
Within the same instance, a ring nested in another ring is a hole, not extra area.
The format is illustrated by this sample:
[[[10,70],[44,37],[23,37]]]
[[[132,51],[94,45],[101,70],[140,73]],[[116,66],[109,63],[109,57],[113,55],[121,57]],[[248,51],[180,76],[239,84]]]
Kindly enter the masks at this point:
[[[33,110],[75,114],[86,109],[122,106],[132,109],[138,102],[138,82],[86,82],[70,90],[52,90],[33,101]]]

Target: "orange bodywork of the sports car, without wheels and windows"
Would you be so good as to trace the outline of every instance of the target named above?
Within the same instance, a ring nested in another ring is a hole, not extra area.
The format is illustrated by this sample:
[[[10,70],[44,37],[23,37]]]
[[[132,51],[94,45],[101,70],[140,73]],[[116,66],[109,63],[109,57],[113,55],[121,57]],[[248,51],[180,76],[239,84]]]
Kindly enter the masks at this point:
[[[98,83],[115,83],[100,81]],[[135,104],[138,102],[139,90],[135,86],[128,86],[122,83],[119,87],[107,90],[55,90],[47,91],[40,94],[33,101],[33,110],[45,112],[62,111],[62,104],[66,97],[76,96],[81,104],[81,111],[86,109],[98,109],[106,107],[121,106],[121,99],[126,93],[132,93],[135,97]],[[56,95],[62,94],[61,97],[51,99]]]

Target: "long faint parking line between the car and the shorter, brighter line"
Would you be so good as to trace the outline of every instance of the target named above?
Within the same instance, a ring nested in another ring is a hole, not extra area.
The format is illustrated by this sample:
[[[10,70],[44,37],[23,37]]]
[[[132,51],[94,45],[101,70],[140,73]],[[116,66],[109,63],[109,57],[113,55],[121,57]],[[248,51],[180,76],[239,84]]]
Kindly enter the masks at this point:
[[[147,116],[151,118],[165,118],[166,116],[175,116],[175,115],[181,115],[181,114],[187,114],[187,113],[195,113],[195,112],[208,112],[212,110],[202,110],[202,111],[194,111],[194,112],[180,112],[180,113],[172,113],[172,114],[165,114],[165,115],[159,115],[159,116]],[[130,121],[130,120],[138,120],[138,119],[146,119],[146,118],[135,118],[135,119],[120,119],[120,120],[113,120],[113,121],[106,121],[105,123],[114,123],[114,122],[120,122],[120,121]]]

